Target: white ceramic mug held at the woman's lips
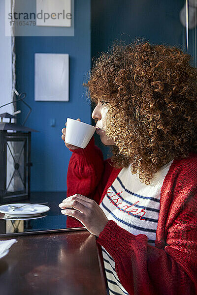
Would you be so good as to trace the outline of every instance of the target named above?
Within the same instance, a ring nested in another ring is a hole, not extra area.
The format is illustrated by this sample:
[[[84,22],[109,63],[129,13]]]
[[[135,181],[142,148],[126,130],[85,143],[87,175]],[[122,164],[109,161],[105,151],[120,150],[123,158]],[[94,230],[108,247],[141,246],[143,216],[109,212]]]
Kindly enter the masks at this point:
[[[78,148],[86,148],[96,129],[95,126],[67,118],[65,142]]]

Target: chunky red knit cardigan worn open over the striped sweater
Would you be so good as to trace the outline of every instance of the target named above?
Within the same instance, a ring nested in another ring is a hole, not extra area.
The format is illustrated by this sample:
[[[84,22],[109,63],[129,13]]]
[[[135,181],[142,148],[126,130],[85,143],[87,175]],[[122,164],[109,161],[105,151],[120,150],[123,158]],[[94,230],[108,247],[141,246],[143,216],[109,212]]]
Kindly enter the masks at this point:
[[[67,196],[76,193],[101,203],[121,169],[103,161],[94,139],[72,150]],[[67,219],[67,226],[82,226]],[[161,189],[155,246],[109,220],[97,238],[113,257],[119,280],[132,295],[197,295],[197,154],[174,159]]]

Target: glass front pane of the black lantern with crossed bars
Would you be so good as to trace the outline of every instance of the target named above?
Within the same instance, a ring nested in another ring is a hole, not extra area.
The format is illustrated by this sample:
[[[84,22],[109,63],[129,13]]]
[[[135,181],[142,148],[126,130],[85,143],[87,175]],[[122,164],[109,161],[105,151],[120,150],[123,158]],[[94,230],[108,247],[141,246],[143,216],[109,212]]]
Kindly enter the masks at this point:
[[[8,141],[7,148],[7,175],[6,191],[16,192],[26,189],[25,181],[25,141]]]

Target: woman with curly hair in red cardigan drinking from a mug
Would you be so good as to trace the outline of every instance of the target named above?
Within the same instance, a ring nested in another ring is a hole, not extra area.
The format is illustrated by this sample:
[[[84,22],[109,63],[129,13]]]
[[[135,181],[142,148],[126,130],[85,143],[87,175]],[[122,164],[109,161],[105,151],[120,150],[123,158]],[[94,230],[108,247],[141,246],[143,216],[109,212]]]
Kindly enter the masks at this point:
[[[87,84],[92,139],[72,150],[62,213],[101,245],[109,294],[197,294],[197,70],[176,47],[115,42]],[[62,129],[65,140],[65,128]]]

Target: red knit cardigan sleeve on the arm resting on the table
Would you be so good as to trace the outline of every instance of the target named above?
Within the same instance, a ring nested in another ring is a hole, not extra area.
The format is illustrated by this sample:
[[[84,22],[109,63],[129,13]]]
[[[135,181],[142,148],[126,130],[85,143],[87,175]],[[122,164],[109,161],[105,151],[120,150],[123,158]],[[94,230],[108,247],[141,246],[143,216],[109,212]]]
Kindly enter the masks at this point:
[[[174,200],[166,209],[163,248],[149,245],[146,235],[132,235],[113,220],[99,234],[97,242],[113,257],[119,280],[130,295],[197,294],[196,178],[176,177]]]

